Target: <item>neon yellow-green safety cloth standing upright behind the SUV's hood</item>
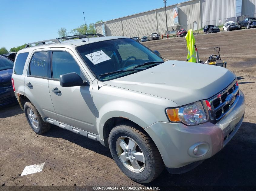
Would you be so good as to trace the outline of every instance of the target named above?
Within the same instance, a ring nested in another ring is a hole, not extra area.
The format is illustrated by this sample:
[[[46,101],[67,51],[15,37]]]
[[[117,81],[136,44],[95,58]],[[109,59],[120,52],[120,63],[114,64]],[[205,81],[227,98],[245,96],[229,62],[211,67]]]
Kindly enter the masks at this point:
[[[187,46],[188,46],[188,62],[196,62],[195,57],[195,39],[194,35],[192,33],[192,29],[188,30],[188,33],[186,34],[185,38],[187,39]]]

